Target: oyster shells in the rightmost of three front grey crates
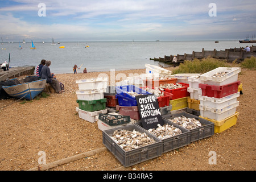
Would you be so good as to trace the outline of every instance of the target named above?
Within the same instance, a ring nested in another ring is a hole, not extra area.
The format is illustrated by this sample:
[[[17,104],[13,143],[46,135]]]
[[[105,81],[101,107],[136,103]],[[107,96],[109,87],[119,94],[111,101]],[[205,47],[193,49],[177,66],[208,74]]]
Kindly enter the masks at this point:
[[[197,127],[202,126],[202,124],[199,122],[199,120],[195,118],[187,118],[182,115],[181,117],[176,117],[173,119],[168,119],[171,122],[177,123],[178,125],[184,127],[187,130],[192,130]]]

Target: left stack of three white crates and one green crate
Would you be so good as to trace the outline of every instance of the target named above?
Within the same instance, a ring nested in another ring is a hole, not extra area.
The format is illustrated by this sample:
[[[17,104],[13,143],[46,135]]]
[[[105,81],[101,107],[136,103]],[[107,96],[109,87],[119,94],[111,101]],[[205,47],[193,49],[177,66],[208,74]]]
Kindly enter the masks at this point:
[[[79,117],[89,122],[96,122],[100,113],[107,113],[106,98],[104,93],[108,86],[107,77],[86,78],[83,80],[76,80],[79,90],[76,90],[79,107],[76,111]]]

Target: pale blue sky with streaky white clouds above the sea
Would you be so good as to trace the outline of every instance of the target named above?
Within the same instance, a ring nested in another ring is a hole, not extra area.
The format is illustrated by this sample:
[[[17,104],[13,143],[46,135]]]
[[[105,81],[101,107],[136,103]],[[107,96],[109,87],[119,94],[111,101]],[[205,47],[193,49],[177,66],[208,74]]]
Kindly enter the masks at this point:
[[[3,41],[240,40],[256,34],[256,1],[0,0]]]

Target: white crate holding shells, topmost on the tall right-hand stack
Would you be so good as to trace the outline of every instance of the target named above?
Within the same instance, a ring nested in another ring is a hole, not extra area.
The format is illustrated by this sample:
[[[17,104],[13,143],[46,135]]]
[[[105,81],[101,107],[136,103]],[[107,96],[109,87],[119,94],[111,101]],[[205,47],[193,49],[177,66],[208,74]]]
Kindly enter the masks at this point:
[[[214,74],[220,73],[220,72],[228,72],[228,73],[221,77],[213,76]],[[199,82],[201,84],[218,85],[218,86],[231,84],[232,82],[236,82],[238,80],[238,73],[240,72],[241,72],[241,68],[219,67],[219,68],[213,69],[212,71],[204,73],[203,75],[200,75]]]

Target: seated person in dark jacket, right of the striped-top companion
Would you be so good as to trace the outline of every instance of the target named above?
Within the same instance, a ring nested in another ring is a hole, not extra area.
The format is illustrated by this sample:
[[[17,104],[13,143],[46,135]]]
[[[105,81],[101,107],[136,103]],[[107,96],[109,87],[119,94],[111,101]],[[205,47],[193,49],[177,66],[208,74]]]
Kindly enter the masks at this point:
[[[47,79],[47,84],[50,84],[56,93],[62,93],[60,89],[60,83],[57,81],[56,76],[53,75],[49,69],[49,66],[51,65],[51,61],[46,61],[46,65],[43,66],[41,70],[41,78]]]

